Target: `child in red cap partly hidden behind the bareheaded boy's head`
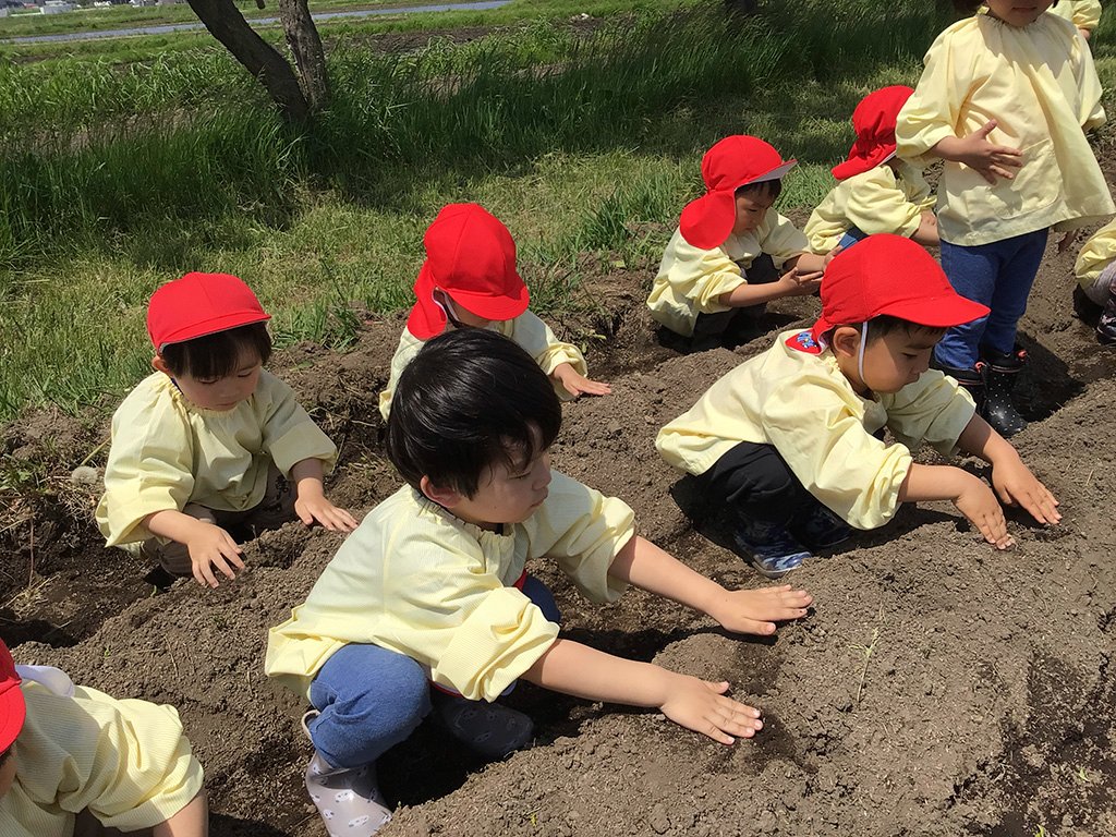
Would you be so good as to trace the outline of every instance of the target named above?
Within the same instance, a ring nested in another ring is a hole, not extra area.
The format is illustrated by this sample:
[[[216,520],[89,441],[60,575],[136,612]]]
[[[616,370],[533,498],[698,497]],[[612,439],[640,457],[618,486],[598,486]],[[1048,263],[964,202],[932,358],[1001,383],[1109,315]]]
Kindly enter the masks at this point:
[[[585,357],[562,343],[529,310],[529,295],[516,271],[516,242],[496,217],[475,203],[442,208],[423,238],[426,261],[415,280],[417,301],[392,358],[379,413],[387,421],[400,375],[431,337],[453,328],[487,328],[522,346],[550,376],[561,398],[607,395],[590,381]]]

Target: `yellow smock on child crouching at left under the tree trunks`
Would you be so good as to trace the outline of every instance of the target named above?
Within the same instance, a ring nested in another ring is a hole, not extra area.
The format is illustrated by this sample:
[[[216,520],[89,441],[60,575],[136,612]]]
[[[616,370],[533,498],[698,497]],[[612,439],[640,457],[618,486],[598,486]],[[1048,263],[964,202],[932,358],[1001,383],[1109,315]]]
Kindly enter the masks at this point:
[[[151,538],[145,517],[187,502],[247,511],[263,499],[270,462],[287,474],[311,458],[329,471],[337,448],[268,371],[252,397],[228,411],[191,404],[156,372],[113,414],[97,526],[112,547]]]

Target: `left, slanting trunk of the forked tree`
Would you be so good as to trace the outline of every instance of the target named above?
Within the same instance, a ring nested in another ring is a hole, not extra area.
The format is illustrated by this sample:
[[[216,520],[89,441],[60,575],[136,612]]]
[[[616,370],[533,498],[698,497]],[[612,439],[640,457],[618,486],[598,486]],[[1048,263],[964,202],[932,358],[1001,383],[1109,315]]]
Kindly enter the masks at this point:
[[[256,33],[232,0],[187,2],[210,33],[267,88],[288,122],[301,122],[309,117],[310,106],[295,77],[295,70]],[[320,47],[319,41],[318,48]]]

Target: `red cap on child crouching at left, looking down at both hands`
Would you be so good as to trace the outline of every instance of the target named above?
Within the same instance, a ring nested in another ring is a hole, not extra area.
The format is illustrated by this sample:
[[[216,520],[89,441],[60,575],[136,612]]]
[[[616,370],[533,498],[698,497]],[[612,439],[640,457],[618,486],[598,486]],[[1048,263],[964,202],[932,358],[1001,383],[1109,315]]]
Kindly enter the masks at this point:
[[[229,273],[186,273],[158,288],[147,304],[147,334],[156,352],[268,319],[251,288]]]

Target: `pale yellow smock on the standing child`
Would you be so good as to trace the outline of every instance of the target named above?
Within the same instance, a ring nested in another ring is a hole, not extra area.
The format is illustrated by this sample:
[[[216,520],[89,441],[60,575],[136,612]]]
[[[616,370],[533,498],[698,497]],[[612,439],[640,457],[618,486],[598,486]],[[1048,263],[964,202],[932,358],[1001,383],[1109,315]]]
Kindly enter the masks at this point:
[[[1100,81],[1084,39],[1064,18],[1017,28],[988,15],[942,32],[898,115],[898,154],[916,165],[945,137],[990,119],[989,142],[1020,148],[1013,180],[989,184],[945,162],[937,187],[944,241],[974,247],[1054,227],[1071,230],[1116,212],[1083,128],[1104,123]]]

